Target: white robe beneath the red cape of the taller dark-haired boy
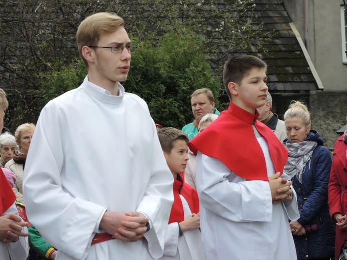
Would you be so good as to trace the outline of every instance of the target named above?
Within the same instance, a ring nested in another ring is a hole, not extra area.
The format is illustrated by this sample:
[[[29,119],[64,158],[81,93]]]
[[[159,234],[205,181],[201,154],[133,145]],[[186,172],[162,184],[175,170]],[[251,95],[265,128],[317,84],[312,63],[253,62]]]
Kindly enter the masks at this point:
[[[275,172],[267,143],[257,140],[271,176]],[[247,181],[200,152],[196,184],[206,259],[296,259],[288,221],[299,218],[295,194],[290,202],[273,204],[267,181]]]

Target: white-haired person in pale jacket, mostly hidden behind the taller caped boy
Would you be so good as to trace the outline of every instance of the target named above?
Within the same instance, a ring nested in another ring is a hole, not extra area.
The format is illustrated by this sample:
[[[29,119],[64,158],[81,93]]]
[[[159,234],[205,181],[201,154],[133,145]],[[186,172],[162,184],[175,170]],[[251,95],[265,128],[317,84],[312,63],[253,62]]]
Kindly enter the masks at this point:
[[[198,125],[198,133],[202,132],[209,126],[214,120],[218,118],[217,114],[205,114]],[[185,170],[185,178],[184,181],[191,185],[194,189],[196,189],[195,185],[195,160],[196,156],[190,150],[188,150],[189,160],[187,162],[187,168]]]

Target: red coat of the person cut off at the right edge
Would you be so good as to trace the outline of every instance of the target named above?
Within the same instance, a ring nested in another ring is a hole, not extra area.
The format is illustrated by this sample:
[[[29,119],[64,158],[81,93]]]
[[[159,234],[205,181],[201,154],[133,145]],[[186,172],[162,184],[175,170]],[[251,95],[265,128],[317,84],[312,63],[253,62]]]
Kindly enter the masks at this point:
[[[335,143],[333,160],[328,186],[330,216],[334,213],[347,214],[347,144],[343,142],[343,135]],[[335,259],[338,259],[347,231],[336,226]]]

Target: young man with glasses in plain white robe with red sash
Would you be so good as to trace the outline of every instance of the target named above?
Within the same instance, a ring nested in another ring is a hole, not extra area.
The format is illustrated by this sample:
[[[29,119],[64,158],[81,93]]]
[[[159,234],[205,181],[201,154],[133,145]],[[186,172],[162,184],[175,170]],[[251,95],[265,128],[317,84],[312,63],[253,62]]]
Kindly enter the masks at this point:
[[[163,253],[173,178],[146,103],[126,93],[131,45],[112,13],[87,17],[77,44],[88,75],[42,110],[28,153],[30,221],[64,259]]]

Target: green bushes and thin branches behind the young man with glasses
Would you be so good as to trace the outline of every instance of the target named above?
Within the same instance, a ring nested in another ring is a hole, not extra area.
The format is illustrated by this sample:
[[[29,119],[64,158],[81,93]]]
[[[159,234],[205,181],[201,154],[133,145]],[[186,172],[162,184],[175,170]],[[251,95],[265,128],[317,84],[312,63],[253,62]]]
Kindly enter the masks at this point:
[[[259,49],[268,40],[252,3],[0,1],[0,87],[10,103],[6,126],[13,131],[18,124],[35,123],[45,102],[79,85],[85,71],[76,60],[78,25],[93,13],[111,11],[125,20],[131,39],[139,45],[125,82],[127,90],[148,102],[156,121],[179,128],[192,120],[193,90],[208,87],[217,97],[222,66],[230,54]]]

